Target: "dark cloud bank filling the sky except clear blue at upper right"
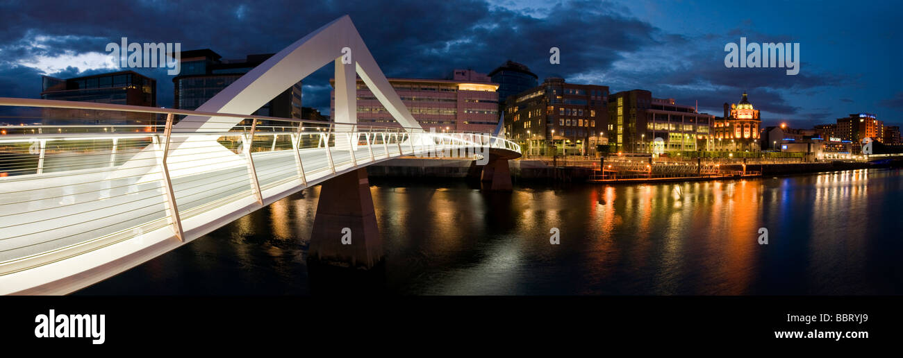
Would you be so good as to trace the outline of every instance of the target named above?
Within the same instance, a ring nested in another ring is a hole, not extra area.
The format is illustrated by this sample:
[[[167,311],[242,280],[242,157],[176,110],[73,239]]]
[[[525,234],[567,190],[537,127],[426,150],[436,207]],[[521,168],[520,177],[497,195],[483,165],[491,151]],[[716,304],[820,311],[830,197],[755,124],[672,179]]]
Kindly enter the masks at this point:
[[[727,34],[694,37],[668,33],[638,20],[622,5],[573,1],[512,10],[482,0],[287,1],[244,3],[140,0],[59,2],[12,1],[0,5],[0,96],[36,97],[40,74],[17,60],[61,53],[104,52],[121,37],[139,42],[181,42],[182,50],[209,48],[227,59],[282,50],[309,32],[349,14],[368,49],[388,77],[442,78],[452,69],[488,72],[505,60],[525,63],[540,78],[644,88],[721,115],[743,90],[772,114],[806,114],[787,93],[850,84],[856,78],[827,74],[803,62],[801,72],[784,69],[727,69],[727,41],[792,41],[756,32],[753,23]],[[41,40],[41,41],[38,41]],[[548,61],[561,50],[561,64]],[[68,52],[67,52],[68,51]],[[657,62],[656,62],[657,61]],[[659,63],[660,62],[660,63]],[[172,106],[172,77],[160,69],[138,69],[157,78],[158,103]],[[57,77],[88,74],[75,64]],[[329,111],[331,67],[304,79],[304,106]],[[900,101],[900,96],[896,97]],[[889,102],[893,103],[893,102]],[[899,106],[897,106],[899,107]]]

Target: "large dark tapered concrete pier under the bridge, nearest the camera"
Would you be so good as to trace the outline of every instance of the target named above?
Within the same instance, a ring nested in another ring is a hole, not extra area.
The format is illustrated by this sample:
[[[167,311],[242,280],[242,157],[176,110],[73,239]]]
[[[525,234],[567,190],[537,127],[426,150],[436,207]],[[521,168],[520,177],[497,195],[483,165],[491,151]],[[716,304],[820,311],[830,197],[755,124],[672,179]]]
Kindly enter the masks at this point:
[[[308,261],[366,270],[382,264],[383,241],[366,169],[323,182]]]

